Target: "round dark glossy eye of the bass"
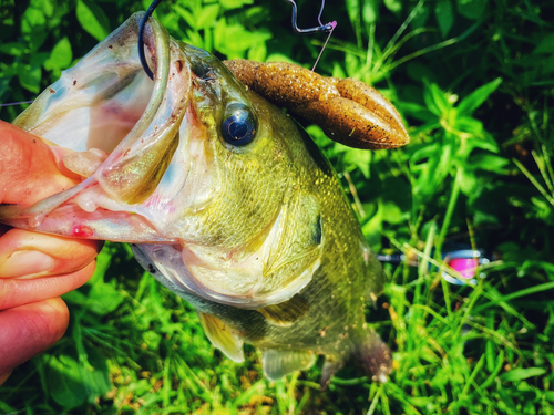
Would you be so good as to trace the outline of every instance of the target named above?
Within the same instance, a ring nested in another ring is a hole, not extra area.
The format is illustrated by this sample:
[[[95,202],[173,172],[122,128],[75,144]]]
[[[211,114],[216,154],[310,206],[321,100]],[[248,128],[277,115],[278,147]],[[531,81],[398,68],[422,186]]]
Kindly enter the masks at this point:
[[[256,120],[252,111],[243,104],[230,104],[222,124],[223,138],[234,145],[244,146],[256,135]]]

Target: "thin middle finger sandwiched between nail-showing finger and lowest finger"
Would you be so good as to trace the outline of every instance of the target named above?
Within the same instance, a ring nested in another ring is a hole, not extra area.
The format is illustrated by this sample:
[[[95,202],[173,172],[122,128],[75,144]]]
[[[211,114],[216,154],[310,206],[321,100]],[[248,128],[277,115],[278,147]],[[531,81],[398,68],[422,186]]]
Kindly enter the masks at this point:
[[[30,304],[74,290],[92,277],[95,264],[93,261],[79,271],[63,276],[29,280],[0,279],[0,310]]]

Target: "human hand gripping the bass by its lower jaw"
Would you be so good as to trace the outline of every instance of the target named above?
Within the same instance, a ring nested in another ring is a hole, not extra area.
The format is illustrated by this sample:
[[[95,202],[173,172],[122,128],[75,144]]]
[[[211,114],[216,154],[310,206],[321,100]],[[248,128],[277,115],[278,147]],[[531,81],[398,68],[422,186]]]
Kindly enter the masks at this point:
[[[63,149],[0,121],[0,203],[31,205],[80,181]],[[54,344],[69,323],[59,298],[86,282],[102,242],[0,225],[0,385],[13,367]]]

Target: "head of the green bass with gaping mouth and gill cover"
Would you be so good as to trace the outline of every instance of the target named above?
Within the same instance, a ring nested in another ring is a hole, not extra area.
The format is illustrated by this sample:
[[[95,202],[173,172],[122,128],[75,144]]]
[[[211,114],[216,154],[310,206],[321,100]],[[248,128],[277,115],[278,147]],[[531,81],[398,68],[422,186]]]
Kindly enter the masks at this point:
[[[0,220],[132,242],[166,284],[205,299],[259,308],[293,297],[320,263],[317,177],[306,177],[326,162],[290,117],[154,19],[151,81],[136,48],[141,20],[130,18],[14,122],[53,143],[83,181],[3,206]]]

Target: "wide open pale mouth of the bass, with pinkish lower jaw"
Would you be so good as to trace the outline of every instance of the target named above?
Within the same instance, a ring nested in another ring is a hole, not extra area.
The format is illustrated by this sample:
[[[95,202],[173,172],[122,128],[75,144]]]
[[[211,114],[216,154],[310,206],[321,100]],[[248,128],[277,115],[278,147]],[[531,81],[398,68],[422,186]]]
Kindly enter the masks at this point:
[[[186,184],[187,126],[195,123],[191,62],[208,54],[177,43],[150,19],[144,38],[152,82],[136,48],[142,15],[64,71],[14,121],[74,151],[63,156],[64,167],[86,179],[30,207],[3,206],[2,221],[69,237],[177,241],[166,225]]]

